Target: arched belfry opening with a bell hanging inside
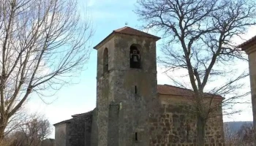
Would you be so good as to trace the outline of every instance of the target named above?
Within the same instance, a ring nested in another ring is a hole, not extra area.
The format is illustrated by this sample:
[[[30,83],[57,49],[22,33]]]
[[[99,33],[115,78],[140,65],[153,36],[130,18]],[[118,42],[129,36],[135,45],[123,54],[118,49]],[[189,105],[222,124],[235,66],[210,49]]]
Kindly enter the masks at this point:
[[[140,69],[140,50],[136,45],[129,47],[129,67],[134,69]]]

